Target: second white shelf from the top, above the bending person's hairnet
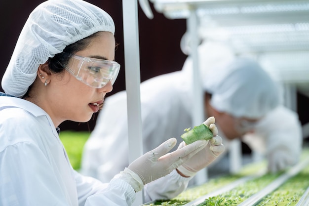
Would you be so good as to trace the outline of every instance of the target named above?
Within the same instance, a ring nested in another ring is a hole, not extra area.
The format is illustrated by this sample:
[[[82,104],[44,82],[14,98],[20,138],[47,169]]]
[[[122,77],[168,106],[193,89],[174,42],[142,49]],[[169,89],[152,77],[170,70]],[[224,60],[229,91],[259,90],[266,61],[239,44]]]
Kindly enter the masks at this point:
[[[237,53],[309,50],[309,23],[230,28],[201,26],[199,36],[208,41],[222,41]]]

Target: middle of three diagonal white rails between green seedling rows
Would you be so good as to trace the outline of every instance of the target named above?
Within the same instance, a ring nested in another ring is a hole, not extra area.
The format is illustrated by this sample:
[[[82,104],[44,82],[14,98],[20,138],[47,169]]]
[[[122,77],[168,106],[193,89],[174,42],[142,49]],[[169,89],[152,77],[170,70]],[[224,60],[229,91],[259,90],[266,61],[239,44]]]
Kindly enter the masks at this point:
[[[272,181],[267,187],[265,187],[260,192],[256,193],[255,195],[251,196],[238,206],[253,206],[254,204],[257,204],[261,199],[263,199],[266,195],[270,194],[272,191],[277,189],[280,185],[282,185],[286,180],[289,178],[295,176],[297,173],[299,173],[305,166],[309,164],[309,158],[300,164],[292,167],[290,170],[288,170],[286,173],[280,175],[277,179]]]

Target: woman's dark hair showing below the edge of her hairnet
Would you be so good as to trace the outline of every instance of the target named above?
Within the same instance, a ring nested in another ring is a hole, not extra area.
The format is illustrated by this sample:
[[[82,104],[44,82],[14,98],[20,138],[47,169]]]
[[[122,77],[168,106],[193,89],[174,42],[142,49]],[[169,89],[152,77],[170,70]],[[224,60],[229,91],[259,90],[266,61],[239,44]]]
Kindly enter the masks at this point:
[[[84,39],[76,41],[75,43],[67,45],[63,49],[63,52],[55,54],[54,57],[47,60],[49,70],[54,74],[63,72],[64,67],[62,65],[67,65],[72,55],[86,48],[90,44],[91,40],[97,36],[98,33],[94,33],[93,35],[90,35]],[[29,86],[28,91],[23,96],[23,98],[29,97],[29,91],[31,90],[32,85],[33,84]]]

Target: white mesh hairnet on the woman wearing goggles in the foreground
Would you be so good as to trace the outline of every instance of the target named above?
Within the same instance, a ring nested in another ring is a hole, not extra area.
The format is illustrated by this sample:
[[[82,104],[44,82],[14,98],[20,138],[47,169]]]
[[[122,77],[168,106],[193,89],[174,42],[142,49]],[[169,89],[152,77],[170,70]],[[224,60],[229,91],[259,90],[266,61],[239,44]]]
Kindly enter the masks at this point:
[[[111,16],[83,0],[47,0],[27,19],[2,78],[5,93],[23,96],[40,64],[76,41],[96,32],[115,33]]]

